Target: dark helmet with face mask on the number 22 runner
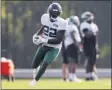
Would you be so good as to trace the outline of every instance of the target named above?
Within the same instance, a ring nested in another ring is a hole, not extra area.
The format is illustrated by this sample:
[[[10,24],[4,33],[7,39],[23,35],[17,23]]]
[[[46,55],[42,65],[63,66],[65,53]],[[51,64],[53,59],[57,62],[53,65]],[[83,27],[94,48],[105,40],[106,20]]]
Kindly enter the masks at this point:
[[[52,3],[48,7],[48,13],[50,15],[50,18],[55,20],[62,13],[62,9],[61,9],[60,4],[58,4],[58,3]]]

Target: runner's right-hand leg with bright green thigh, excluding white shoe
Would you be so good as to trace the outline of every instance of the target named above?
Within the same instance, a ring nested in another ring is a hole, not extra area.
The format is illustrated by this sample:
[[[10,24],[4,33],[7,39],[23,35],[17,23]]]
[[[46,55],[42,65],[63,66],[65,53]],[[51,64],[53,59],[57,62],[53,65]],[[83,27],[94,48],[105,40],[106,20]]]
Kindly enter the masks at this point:
[[[55,49],[55,48],[51,48],[51,47],[48,47],[48,48],[49,48],[49,50],[46,53],[46,55],[44,57],[44,61],[43,61],[42,65],[40,66],[40,69],[35,77],[36,81],[38,81],[41,78],[41,76],[44,74],[47,67],[52,63],[52,61],[54,61],[56,59],[56,57],[59,54],[59,49]]]

